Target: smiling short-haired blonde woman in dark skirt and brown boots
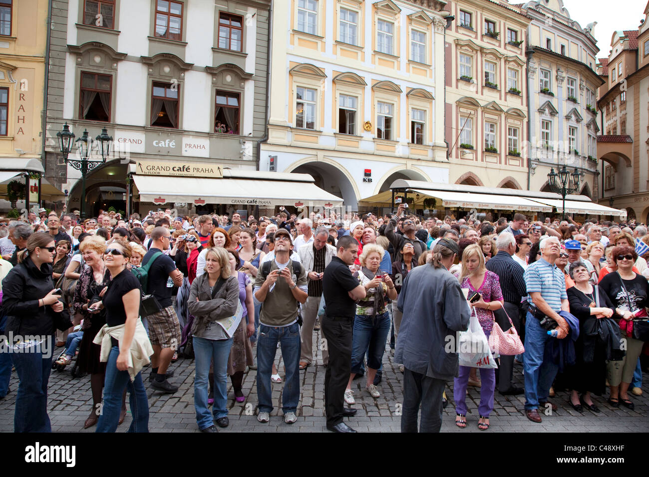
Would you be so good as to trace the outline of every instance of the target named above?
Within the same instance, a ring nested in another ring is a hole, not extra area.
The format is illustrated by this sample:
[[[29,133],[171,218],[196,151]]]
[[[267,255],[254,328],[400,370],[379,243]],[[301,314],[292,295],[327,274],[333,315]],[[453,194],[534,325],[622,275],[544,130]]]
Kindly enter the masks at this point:
[[[92,409],[88,419],[84,422],[84,429],[88,429],[99,420],[101,413],[101,393],[106,378],[106,363],[99,360],[101,347],[93,343],[93,339],[106,324],[106,310],[90,312],[88,308],[95,302],[101,301],[104,288],[110,282],[110,271],[104,265],[104,252],[106,241],[99,236],[88,237],[79,245],[85,266],[81,271],[75,295],[72,300],[76,313],[83,317],[84,334],[79,345],[79,358],[77,365],[80,373],[90,374],[90,389],[92,390]],[[126,400],[119,422],[126,417]]]

